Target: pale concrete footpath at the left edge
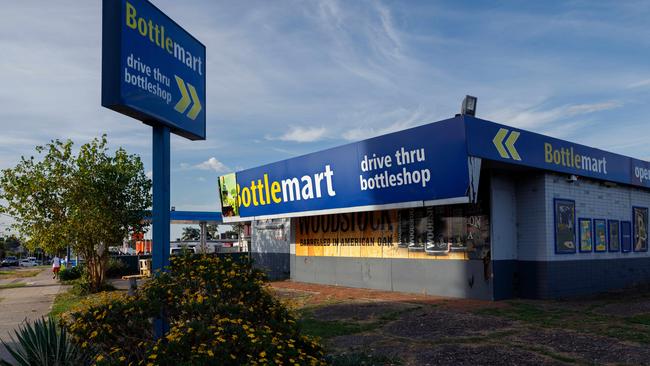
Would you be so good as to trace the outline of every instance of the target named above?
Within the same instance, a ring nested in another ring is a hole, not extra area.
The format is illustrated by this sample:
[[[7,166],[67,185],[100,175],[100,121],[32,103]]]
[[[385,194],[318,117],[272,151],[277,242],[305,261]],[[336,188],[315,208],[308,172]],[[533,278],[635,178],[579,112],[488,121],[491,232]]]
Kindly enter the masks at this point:
[[[10,342],[9,334],[14,336],[14,330],[25,320],[46,316],[50,312],[54,297],[61,289],[59,281],[52,279],[49,269],[34,277],[0,280],[0,284],[19,282],[24,282],[27,286],[0,289],[0,339],[7,343]],[[13,361],[1,344],[0,359]]]

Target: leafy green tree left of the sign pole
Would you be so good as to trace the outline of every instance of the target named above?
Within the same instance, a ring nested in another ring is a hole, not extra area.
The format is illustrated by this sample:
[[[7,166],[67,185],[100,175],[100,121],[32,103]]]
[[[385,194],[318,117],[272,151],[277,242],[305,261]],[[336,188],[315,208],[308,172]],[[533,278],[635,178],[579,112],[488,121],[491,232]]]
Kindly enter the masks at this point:
[[[54,254],[70,244],[87,265],[91,291],[101,288],[109,245],[129,232],[144,230],[151,206],[151,181],[136,155],[120,148],[109,155],[106,136],[81,146],[75,156],[72,141],[38,146],[46,152],[6,169],[0,177],[0,207],[16,218],[14,227],[25,245]]]

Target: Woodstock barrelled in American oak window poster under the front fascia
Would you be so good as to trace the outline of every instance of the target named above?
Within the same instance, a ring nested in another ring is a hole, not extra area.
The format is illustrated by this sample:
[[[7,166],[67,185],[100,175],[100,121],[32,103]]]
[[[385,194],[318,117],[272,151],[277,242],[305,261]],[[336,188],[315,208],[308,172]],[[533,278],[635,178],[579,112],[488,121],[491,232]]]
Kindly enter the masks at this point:
[[[419,207],[300,217],[296,255],[483,259],[489,217],[473,205]]]

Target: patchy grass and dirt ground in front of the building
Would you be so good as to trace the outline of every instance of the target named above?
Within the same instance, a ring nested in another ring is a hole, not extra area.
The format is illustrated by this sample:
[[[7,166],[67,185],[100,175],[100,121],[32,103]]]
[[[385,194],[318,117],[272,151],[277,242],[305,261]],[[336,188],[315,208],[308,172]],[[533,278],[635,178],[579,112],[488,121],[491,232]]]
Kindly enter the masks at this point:
[[[638,289],[489,302],[296,282],[270,288],[296,305],[331,356],[364,355],[357,363],[650,365],[650,292]]]

